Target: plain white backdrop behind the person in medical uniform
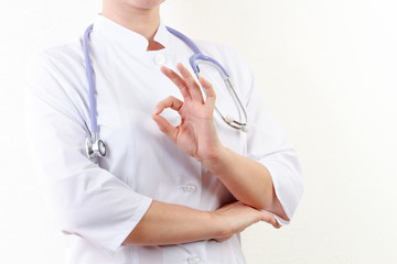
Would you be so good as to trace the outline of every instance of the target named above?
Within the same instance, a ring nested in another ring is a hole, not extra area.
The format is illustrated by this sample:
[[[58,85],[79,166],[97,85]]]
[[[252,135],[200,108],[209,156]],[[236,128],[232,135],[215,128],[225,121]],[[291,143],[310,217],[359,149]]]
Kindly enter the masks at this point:
[[[23,129],[25,63],[78,37],[100,0],[0,9],[0,263],[62,263]],[[243,233],[248,264],[396,263],[397,3],[169,0],[163,21],[226,43],[256,74],[294,143],[305,191],[289,227]],[[54,146],[56,151],[56,146]]]

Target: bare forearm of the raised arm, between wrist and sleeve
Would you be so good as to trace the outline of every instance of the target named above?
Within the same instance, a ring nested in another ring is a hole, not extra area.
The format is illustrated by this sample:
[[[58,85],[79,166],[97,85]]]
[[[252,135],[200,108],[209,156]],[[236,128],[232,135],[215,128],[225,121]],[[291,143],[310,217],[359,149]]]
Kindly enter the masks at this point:
[[[288,220],[276,196],[271,175],[262,164],[222,147],[214,158],[203,162],[203,165],[216,175],[239,201]]]

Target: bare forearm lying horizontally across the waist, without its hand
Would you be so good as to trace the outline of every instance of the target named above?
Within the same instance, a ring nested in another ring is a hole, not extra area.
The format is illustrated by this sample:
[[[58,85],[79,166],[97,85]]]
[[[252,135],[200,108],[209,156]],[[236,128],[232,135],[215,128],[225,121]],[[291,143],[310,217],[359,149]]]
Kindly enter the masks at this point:
[[[122,244],[167,245],[222,237],[211,212],[153,200]]]

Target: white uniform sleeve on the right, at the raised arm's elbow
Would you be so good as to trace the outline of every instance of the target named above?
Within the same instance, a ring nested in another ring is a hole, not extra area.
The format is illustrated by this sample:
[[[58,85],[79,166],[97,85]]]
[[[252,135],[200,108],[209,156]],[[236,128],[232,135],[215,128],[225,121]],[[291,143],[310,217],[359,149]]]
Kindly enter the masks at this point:
[[[303,194],[303,176],[297,152],[265,107],[247,63],[240,55],[236,56],[248,117],[247,157],[261,163],[269,170],[276,195],[291,220]],[[275,217],[282,226],[290,222]]]

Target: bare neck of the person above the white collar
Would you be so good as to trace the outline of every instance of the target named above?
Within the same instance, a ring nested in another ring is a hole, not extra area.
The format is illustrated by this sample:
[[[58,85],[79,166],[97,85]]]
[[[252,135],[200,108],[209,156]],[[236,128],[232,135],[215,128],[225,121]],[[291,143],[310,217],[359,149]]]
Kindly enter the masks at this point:
[[[148,51],[157,51],[163,46],[154,42],[154,34],[160,25],[160,7],[139,9],[114,0],[104,0],[101,15],[129,29],[142,36],[148,42]]]

